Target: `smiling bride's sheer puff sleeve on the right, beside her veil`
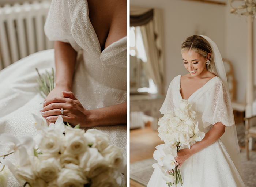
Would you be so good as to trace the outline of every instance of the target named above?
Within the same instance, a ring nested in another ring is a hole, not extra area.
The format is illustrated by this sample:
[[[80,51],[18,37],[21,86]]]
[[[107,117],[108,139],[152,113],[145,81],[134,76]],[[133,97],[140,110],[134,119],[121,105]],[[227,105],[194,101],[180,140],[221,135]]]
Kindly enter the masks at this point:
[[[206,107],[202,115],[204,128],[215,123],[231,126],[234,122],[233,108],[229,92],[222,81],[218,81],[211,88]]]

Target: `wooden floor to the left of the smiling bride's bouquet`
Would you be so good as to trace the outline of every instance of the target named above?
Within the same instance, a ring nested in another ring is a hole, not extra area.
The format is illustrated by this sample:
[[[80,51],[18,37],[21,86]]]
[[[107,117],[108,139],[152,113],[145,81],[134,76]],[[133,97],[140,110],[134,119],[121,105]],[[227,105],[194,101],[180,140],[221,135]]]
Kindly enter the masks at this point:
[[[158,136],[158,131],[151,127],[130,130],[130,163],[153,157],[155,147],[163,144]],[[130,187],[144,187],[142,184],[130,180]]]

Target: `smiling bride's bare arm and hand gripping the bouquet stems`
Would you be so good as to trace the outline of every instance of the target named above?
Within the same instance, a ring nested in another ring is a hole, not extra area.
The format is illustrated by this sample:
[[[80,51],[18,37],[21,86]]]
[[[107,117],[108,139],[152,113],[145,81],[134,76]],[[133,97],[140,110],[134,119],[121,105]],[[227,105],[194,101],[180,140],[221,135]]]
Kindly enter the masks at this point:
[[[177,163],[179,163],[178,168],[193,154],[199,152],[200,150],[208,147],[209,145],[213,144],[216,140],[218,140],[225,132],[225,125],[221,122],[215,123],[212,129],[209,130],[203,140],[196,142],[191,148],[181,149],[178,152],[178,157],[175,157]],[[176,164],[177,165],[177,164]]]

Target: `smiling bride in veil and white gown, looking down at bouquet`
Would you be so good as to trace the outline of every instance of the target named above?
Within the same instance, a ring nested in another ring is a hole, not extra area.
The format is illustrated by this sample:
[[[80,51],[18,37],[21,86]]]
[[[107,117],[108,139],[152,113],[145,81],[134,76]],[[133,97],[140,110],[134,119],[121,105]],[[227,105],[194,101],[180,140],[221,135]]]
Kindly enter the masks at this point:
[[[227,77],[218,47],[206,36],[193,35],[184,41],[181,53],[189,73],[172,80],[160,111],[173,111],[186,99],[197,114],[199,130],[206,133],[202,141],[191,149],[181,149],[175,157],[182,187],[245,187]],[[162,173],[155,169],[147,187],[164,186],[167,184]]]

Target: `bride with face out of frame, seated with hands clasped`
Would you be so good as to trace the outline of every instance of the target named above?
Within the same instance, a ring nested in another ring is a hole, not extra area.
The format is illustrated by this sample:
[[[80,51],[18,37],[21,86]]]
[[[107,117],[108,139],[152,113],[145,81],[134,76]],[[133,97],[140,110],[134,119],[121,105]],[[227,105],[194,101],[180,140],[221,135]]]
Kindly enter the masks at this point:
[[[55,41],[54,50],[0,72],[0,134],[35,136],[31,113],[50,123],[63,109],[64,121],[109,134],[126,156],[126,1],[52,0],[45,34]],[[34,88],[35,68],[45,73],[54,66],[56,86],[44,100]],[[0,146],[0,155],[7,151]],[[12,155],[6,159],[14,162]],[[8,186],[19,184],[9,178]]]

